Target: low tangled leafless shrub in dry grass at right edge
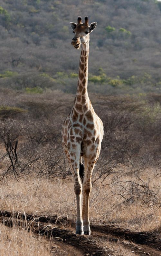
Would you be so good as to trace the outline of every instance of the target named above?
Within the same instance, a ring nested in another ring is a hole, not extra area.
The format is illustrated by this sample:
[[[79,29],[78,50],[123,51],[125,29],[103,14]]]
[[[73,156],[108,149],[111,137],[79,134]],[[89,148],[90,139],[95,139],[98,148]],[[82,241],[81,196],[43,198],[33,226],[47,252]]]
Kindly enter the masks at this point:
[[[134,202],[147,206],[161,206],[160,184],[156,183],[156,177],[161,177],[161,171],[156,171],[145,177],[135,174],[134,178],[122,180],[121,174],[118,179],[112,182],[113,195],[117,195],[123,204]]]

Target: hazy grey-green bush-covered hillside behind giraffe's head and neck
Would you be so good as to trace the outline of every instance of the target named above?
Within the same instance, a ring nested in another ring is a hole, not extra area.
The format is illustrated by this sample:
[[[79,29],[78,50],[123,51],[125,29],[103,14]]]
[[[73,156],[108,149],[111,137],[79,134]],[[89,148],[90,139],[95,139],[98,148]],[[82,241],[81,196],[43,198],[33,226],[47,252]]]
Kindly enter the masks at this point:
[[[69,22],[97,21],[90,35],[89,90],[160,92],[161,4],[153,0],[1,0],[0,86],[74,93],[80,51]],[[28,89],[27,89],[28,90]]]

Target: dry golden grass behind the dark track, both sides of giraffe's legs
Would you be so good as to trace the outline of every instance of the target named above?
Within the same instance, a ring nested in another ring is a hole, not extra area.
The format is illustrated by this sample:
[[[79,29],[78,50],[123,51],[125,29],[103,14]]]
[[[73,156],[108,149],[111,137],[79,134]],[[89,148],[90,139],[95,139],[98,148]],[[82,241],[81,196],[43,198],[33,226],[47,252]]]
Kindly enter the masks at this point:
[[[125,177],[124,177],[125,178]],[[154,182],[154,181],[153,181]],[[159,182],[157,180],[157,182]],[[45,178],[5,179],[0,182],[0,209],[37,215],[68,216],[76,220],[73,182]],[[161,208],[153,202],[125,201],[116,194],[118,185],[93,186],[90,195],[90,222],[112,222],[134,231],[160,232]],[[159,195],[158,195],[159,197]]]

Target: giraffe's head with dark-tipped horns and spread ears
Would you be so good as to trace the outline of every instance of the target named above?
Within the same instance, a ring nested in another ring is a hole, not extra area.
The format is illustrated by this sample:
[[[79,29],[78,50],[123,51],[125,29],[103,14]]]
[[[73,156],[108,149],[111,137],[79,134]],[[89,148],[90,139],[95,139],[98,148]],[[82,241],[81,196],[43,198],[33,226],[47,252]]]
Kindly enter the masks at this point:
[[[78,23],[70,22],[71,28],[75,36],[73,37],[71,44],[79,49],[81,44],[86,44],[90,41],[89,34],[95,29],[97,22],[93,22],[88,25],[88,17],[85,17],[84,23],[81,22],[82,18],[78,17]]]

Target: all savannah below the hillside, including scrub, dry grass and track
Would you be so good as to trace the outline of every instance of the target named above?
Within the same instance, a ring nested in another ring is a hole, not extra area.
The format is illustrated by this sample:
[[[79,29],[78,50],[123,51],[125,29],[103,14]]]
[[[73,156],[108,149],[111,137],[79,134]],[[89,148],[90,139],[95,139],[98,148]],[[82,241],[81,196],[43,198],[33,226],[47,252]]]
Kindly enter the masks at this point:
[[[91,236],[80,237],[61,147],[74,95],[1,90],[1,255],[161,254],[161,96],[90,98],[105,135],[92,177]]]

